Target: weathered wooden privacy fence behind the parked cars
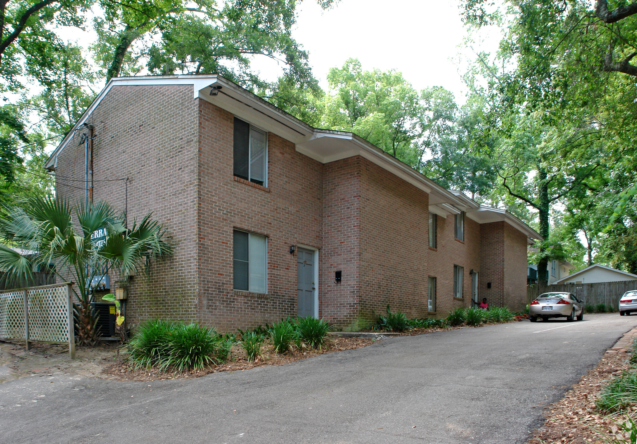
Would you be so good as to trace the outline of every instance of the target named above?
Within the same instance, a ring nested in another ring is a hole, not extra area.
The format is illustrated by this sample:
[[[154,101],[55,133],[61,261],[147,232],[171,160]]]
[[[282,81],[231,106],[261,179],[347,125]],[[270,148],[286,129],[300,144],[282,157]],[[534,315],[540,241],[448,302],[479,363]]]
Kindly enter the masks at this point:
[[[619,298],[629,290],[637,290],[637,280],[596,283],[565,283],[562,285],[527,285],[527,304],[542,293],[564,291],[575,296],[586,304],[606,304],[618,310]]]

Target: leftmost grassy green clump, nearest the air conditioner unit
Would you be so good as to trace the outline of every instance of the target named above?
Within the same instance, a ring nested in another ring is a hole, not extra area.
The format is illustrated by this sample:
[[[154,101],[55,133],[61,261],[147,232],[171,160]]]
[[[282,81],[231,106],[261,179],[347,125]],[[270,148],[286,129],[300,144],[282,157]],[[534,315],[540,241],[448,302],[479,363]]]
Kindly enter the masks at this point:
[[[169,341],[175,324],[165,320],[149,320],[141,324],[126,349],[135,368],[150,367],[168,357]]]

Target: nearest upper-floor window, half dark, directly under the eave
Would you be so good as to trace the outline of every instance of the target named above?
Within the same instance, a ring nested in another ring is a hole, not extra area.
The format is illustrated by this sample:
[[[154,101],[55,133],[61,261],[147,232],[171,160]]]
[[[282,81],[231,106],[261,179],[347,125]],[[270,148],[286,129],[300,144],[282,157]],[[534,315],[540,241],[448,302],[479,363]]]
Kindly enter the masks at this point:
[[[268,134],[234,118],[234,175],[268,186]]]

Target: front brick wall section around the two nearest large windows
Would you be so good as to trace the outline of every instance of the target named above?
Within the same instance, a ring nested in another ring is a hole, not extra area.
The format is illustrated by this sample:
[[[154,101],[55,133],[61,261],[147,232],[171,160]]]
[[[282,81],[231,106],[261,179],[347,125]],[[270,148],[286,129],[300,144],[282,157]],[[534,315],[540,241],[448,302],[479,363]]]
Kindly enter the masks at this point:
[[[268,189],[234,180],[233,118],[199,101],[199,316],[220,331],[296,315],[289,246],[322,247],[323,165],[269,133]],[[233,228],[268,236],[268,294],[233,290]]]

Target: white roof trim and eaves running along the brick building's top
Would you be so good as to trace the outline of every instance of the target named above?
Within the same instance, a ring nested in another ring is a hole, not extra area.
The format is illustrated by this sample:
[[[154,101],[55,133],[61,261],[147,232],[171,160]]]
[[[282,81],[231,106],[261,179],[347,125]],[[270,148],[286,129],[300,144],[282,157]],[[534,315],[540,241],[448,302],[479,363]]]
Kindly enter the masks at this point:
[[[364,140],[352,132],[331,131],[326,129],[316,129],[306,124],[302,120],[276,108],[259,96],[256,96],[247,89],[243,89],[236,83],[227,80],[219,75],[169,75],[169,76],[139,76],[139,77],[115,77],[111,78],[106,87],[97,95],[93,103],[83,113],[80,120],[73,125],[73,129],[68,132],[60,145],[55,148],[45,163],[45,168],[55,169],[57,156],[64,150],[64,147],[73,138],[73,134],[80,129],[90,114],[97,108],[99,103],[106,97],[111,88],[115,86],[128,85],[192,85],[193,98],[203,99],[213,103],[220,108],[227,110],[239,118],[257,125],[266,131],[274,132],[283,138],[292,141],[296,145],[296,150],[322,163],[334,162],[347,157],[360,155],[364,159],[386,169],[390,173],[411,183],[420,190],[429,194],[429,211],[441,217],[448,214],[459,214],[466,211],[467,216],[478,223],[494,222],[495,220],[505,220],[531,238],[542,240],[540,234],[531,227],[513,216],[505,210],[481,206],[464,193],[447,190],[438,185],[430,178],[422,175],[404,162],[387,154],[372,143]],[[213,86],[220,87],[217,96],[210,96],[210,89]],[[480,213],[490,212],[491,217],[480,217]],[[496,217],[493,217],[496,215]],[[481,219],[485,219],[481,222]]]

